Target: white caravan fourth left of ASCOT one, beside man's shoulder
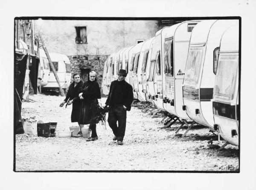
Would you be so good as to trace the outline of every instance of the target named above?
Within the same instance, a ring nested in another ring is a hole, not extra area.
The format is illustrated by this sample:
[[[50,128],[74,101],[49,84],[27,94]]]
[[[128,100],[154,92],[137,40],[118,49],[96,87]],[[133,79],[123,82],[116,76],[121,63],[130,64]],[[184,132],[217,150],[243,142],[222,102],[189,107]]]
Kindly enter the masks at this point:
[[[143,42],[144,43],[144,42]],[[138,81],[137,77],[134,78],[137,74],[138,70],[138,63],[139,63],[139,58],[140,58],[140,51],[143,43],[138,43],[134,46],[134,48],[131,49],[132,51],[132,57],[131,57],[131,64],[129,65],[129,80],[130,84],[132,85],[133,88],[133,93],[134,93],[134,99],[138,99]]]

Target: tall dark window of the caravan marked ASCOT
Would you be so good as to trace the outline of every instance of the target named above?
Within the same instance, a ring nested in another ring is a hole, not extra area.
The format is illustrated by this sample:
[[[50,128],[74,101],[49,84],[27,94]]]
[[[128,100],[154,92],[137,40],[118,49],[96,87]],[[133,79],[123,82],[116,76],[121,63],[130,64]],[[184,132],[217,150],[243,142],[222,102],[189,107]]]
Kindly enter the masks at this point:
[[[164,73],[173,77],[173,39],[166,39],[163,44]]]

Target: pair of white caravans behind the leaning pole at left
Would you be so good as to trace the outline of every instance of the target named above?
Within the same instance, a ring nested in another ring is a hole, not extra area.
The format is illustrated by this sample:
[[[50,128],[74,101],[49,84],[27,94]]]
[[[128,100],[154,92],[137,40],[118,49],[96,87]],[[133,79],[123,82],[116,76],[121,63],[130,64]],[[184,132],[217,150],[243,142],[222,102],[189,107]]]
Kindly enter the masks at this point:
[[[49,56],[58,75],[61,87],[68,88],[71,80],[70,60],[64,54],[49,52]],[[44,49],[39,49],[40,67],[38,68],[38,77],[41,78],[41,87],[43,89],[59,89],[58,83],[49,66],[49,60],[44,52]]]

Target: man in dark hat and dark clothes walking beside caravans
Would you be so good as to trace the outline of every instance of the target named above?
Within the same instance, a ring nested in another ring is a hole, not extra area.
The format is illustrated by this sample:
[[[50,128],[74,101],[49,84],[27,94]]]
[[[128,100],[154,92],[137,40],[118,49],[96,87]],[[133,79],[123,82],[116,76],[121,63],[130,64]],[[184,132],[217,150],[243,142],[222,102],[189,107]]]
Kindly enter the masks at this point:
[[[127,72],[120,69],[117,80],[111,82],[106,106],[108,106],[108,124],[113,130],[113,140],[117,140],[118,145],[122,145],[125,136],[126,127],[126,111],[131,110],[131,103],[133,101],[132,86],[125,81]],[[118,121],[118,127],[116,122]]]

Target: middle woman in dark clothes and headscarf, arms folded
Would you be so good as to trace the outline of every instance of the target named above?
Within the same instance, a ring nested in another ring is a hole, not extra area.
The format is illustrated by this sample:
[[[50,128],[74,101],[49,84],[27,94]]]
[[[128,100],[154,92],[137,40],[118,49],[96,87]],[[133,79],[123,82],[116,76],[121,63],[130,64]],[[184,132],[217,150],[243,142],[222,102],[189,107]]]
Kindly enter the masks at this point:
[[[98,140],[96,124],[99,123],[98,99],[101,99],[99,84],[96,79],[96,72],[90,71],[88,81],[80,88],[79,98],[81,99],[81,109],[79,113],[79,124],[90,124],[91,137],[87,141]]]

